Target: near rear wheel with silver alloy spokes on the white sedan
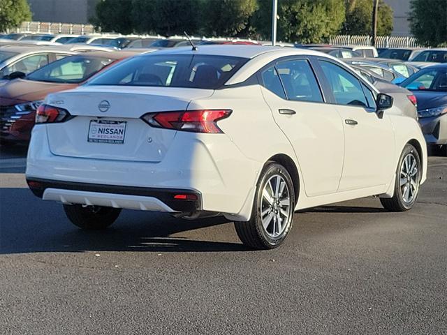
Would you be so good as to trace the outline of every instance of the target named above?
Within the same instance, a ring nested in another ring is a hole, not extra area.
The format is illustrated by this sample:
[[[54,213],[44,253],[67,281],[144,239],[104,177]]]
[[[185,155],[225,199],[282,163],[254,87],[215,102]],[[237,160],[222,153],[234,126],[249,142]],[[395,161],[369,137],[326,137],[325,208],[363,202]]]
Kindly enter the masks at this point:
[[[284,166],[269,162],[256,185],[249,221],[235,221],[237,236],[254,249],[272,249],[282,244],[292,228],[295,208],[293,181]]]

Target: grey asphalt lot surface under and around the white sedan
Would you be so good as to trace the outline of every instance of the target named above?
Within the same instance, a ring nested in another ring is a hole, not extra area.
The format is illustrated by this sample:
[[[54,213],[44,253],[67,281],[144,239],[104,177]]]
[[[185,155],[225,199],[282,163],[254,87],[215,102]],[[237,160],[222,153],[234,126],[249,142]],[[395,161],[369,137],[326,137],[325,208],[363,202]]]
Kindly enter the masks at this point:
[[[124,211],[82,232],[24,188],[20,154],[1,158],[2,335],[447,334],[447,158],[412,211],[298,213],[274,251],[224,219]]]

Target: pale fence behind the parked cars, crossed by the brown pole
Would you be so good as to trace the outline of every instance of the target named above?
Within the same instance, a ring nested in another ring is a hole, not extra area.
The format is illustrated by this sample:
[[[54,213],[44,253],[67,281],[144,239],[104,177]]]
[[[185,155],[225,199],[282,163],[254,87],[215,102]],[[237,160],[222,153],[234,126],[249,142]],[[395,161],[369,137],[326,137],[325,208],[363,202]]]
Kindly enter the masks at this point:
[[[332,45],[372,45],[372,36],[338,35],[329,39]],[[423,47],[414,37],[408,36],[377,36],[376,47]]]

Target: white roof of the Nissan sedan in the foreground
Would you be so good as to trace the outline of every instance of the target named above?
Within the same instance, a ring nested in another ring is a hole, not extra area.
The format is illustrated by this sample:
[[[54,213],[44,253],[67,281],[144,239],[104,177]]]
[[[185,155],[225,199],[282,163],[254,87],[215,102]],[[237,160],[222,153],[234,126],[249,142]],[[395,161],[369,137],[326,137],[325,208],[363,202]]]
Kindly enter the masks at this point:
[[[202,54],[253,59],[260,54],[270,52],[276,52],[279,56],[281,56],[281,54],[284,54],[284,56],[293,54],[321,54],[321,52],[316,52],[309,49],[300,49],[298,47],[272,47],[266,45],[198,45],[196,51],[193,51],[191,47],[175,47],[158,50],[153,54]]]

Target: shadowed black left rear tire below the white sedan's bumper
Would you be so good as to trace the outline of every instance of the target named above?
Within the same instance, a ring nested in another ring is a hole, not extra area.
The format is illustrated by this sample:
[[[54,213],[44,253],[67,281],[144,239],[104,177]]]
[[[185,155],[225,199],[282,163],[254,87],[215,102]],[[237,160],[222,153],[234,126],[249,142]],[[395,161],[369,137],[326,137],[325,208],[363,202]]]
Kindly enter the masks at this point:
[[[120,208],[64,204],[64,211],[73,225],[85,230],[102,230],[114,223]]]

